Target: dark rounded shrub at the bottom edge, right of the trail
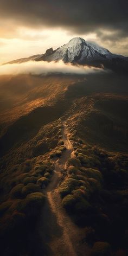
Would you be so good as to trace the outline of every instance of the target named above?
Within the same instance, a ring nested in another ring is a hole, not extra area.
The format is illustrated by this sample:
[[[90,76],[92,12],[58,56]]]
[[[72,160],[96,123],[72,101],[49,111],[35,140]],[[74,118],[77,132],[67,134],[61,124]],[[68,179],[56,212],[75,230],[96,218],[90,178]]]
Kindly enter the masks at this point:
[[[108,242],[95,242],[91,256],[110,256],[111,246]]]

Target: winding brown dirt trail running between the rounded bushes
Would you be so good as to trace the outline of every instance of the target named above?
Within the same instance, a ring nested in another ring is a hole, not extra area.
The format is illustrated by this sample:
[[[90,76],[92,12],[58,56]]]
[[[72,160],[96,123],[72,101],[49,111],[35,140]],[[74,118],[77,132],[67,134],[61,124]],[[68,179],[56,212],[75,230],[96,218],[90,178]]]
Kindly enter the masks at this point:
[[[57,185],[62,176],[61,173],[65,171],[65,163],[73,152],[65,122],[63,122],[62,137],[66,151],[55,163],[55,172],[52,182],[46,190],[47,201],[42,209],[38,228],[43,245],[45,245],[45,256],[85,256],[85,245],[79,243],[84,232],[74,225],[61,207],[61,198],[57,191]],[[88,254],[86,253],[86,255]]]

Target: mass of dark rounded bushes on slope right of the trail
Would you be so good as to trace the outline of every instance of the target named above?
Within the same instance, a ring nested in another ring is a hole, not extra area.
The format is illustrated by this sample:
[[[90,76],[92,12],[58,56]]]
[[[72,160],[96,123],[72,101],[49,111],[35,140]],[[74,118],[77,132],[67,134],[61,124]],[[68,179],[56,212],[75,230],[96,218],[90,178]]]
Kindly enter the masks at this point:
[[[73,146],[74,156],[66,163],[67,175],[59,187],[62,207],[77,225],[91,227],[86,234],[86,241],[94,244],[91,255],[117,255],[110,244],[124,248],[128,237],[127,156],[80,141]]]

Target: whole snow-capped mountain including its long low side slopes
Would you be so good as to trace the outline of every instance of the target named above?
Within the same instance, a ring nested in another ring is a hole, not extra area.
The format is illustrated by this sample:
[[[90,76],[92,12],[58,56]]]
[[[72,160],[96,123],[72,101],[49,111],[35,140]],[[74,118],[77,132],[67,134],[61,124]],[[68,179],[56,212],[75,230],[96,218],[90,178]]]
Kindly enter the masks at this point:
[[[8,63],[22,63],[27,61],[59,61],[70,62],[79,65],[104,66],[114,71],[128,71],[128,57],[111,53],[109,50],[89,43],[81,37],[74,37],[67,44],[53,50],[47,49],[44,54],[10,61]],[[7,64],[7,63],[5,63]]]

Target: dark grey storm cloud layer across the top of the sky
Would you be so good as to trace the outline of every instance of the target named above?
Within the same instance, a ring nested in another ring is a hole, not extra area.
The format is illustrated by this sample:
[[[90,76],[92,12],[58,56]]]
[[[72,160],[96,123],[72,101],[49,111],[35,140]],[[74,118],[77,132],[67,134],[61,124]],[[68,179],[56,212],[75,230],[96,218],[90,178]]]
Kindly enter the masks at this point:
[[[29,27],[63,27],[75,33],[99,29],[128,34],[127,0],[1,0],[0,17]]]

